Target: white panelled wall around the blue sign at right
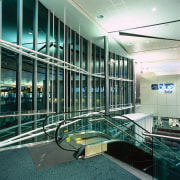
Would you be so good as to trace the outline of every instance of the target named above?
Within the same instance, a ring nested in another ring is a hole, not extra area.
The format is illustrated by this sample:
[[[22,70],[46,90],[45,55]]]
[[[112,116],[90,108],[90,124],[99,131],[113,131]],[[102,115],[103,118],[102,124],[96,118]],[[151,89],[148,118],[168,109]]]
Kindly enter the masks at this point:
[[[152,90],[152,84],[174,83],[171,94]],[[180,117],[180,75],[141,76],[141,106],[136,112],[153,113],[161,117]]]

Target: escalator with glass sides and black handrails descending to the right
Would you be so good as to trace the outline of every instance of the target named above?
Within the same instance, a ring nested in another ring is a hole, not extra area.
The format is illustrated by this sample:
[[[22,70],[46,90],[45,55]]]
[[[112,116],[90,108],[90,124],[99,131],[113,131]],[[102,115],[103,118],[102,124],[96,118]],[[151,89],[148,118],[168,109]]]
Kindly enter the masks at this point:
[[[54,124],[53,130],[48,122]],[[134,131],[136,126],[142,128],[125,117],[115,120],[90,112],[49,116],[44,129],[60,148],[74,151],[76,158],[104,152],[158,179],[180,179],[178,152],[157,138],[148,141]]]

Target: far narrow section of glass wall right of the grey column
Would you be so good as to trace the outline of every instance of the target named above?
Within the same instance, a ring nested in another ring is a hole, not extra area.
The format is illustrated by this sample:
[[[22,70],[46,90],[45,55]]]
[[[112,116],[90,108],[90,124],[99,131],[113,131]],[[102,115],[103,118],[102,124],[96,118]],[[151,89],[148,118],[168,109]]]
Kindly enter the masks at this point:
[[[120,55],[109,53],[110,107],[120,114],[132,112],[133,61]]]

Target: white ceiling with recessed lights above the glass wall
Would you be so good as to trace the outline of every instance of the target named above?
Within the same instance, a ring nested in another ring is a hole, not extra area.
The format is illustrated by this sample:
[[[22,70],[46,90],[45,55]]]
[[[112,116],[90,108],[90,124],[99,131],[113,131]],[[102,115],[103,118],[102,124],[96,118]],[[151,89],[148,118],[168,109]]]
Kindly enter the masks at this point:
[[[40,1],[72,29],[100,46],[102,37],[109,35],[110,49],[114,49],[113,42],[121,44],[141,72],[180,73],[180,0]]]

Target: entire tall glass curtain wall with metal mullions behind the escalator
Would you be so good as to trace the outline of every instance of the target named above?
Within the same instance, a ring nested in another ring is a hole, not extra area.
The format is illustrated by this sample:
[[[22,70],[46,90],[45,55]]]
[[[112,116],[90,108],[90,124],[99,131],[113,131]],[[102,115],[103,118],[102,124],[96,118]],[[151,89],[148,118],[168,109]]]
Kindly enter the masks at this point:
[[[23,1],[23,7],[20,9],[23,14],[21,21],[17,17],[17,2],[19,1],[2,1],[2,40],[17,44],[17,27],[22,25],[22,48],[29,50],[23,50],[26,55],[22,55],[20,62],[19,53],[2,48],[0,113],[16,114],[19,111],[18,103],[21,104],[19,107],[22,114],[34,110],[47,113],[73,112],[88,108],[95,111],[104,110],[104,49],[95,44],[89,46],[89,41],[80,33],[67,27],[53,12],[47,10],[40,2],[36,4],[35,0]],[[31,50],[35,50],[35,53]],[[32,54],[36,56],[33,58],[30,56]],[[19,62],[22,69],[18,67]],[[129,96],[133,91],[132,61],[110,53],[109,62],[111,108],[125,107],[132,103]],[[71,65],[76,67],[72,68]],[[20,88],[16,87],[17,80],[20,80]],[[88,83],[88,80],[91,82]],[[20,102],[17,94],[21,96]],[[35,102],[33,97],[37,97]],[[12,132],[20,134],[26,131],[26,128],[20,130],[22,122],[37,119],[38,117],[4,118],[0,120],[0,128],[18,125],[19,129],[16,128]],[[38,121],[37,124],[41,123]],[[32,122],[30,129],[33,128],[35,126]]]

